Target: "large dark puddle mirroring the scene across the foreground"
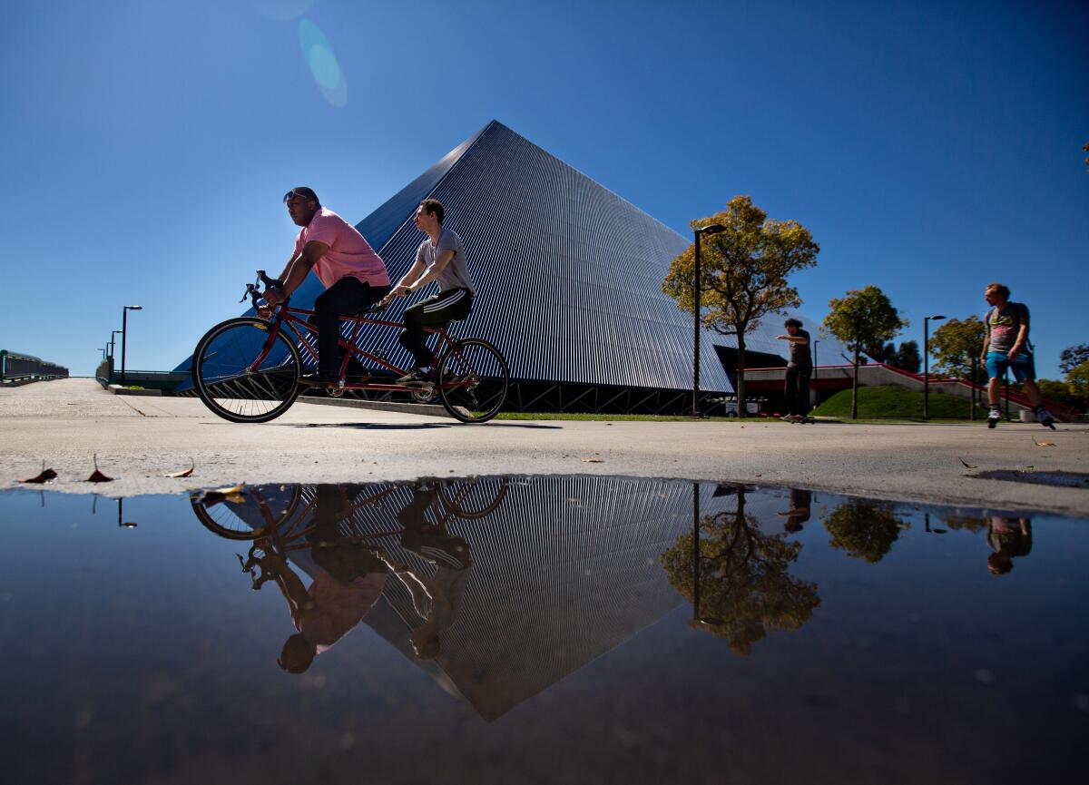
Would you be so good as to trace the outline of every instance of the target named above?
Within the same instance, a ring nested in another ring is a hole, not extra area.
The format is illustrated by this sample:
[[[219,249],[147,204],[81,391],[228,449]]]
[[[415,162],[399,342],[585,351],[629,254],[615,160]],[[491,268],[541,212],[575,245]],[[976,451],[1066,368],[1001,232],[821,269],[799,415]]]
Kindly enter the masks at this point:
[[[1081,770],[1085,520],[572,476],[22,491],[0,527],[5,782]]]

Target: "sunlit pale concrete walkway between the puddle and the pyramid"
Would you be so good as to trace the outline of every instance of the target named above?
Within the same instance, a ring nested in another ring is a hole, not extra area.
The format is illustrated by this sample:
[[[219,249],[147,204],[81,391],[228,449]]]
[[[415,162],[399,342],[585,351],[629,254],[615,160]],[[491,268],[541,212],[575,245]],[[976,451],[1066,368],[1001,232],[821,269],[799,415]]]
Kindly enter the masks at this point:
[[[1053,443],[1040,446],[1037,442]],[[99,468],[117,481],[84,480]],[[196,465],[192,477],[163,475]],[[978,466],[967,469],[960,461]],[[111,395],[89,379],[0,390],[0,489],[45,461],[69,492],[170,493],[257,482],[484,474],[608,474],[793,485],[883,499],[1089,516],[1089,489],[975,479],[988,469],[1089,473],[1089,426],[492,421],[296,404],[236,425],[197,398]]]

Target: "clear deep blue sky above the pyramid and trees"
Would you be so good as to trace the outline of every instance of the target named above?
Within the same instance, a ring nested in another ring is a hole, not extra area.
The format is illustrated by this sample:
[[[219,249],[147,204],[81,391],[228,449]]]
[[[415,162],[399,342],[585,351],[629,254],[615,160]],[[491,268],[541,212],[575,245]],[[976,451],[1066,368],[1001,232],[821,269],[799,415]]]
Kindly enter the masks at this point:
[[[0,345],[91,373],[139,304],[129,367],[173,367],[286,259],[284,191],[359,221],[497,119],[678,232],[736,194],[800,221],[818,321],[872,283],[921,341],[1004,281],[1055,377],[1087,41],[1084,2],[8,3]]]

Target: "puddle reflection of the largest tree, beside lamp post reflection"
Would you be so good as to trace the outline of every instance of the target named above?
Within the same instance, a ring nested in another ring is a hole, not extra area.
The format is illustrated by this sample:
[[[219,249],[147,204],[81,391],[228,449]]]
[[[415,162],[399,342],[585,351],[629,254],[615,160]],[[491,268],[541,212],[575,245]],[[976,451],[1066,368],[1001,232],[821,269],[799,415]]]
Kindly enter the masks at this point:
[[[734,653],[748,654],[768,630],[800,628],[820,604],[817,585],[787,572],[802,543],[761,532],[745,515],[744,490],[736,512],[700,519],[698,586],[694,544],[693,533],[682,536],[662,554],[662,566],[673,587],[698,604],[700,626],[724,638]]]

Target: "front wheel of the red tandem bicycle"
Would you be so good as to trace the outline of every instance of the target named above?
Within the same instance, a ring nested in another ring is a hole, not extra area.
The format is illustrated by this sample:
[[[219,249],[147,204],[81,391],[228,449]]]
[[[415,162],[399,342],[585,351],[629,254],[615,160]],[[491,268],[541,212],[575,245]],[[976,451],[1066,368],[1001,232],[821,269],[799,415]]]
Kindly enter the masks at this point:
[[[303,364],[283,332],[264,319],[228,319],[193,353],[193,387],[205,405],[232,422],[266,422],[298,397]]]

